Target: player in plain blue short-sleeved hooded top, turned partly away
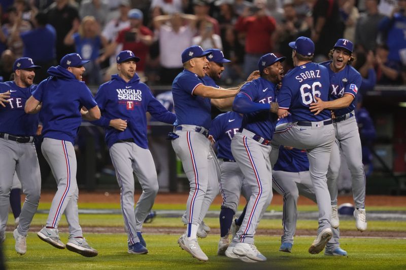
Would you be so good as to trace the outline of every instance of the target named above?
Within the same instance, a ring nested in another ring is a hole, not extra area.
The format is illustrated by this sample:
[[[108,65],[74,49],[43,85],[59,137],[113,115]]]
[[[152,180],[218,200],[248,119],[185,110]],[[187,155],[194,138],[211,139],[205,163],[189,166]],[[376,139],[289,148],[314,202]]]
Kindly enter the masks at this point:
[[[48,69],[48,79],[42,81],[32,92],[32,96],[25,103],[25,112],[35,112],[42,102],[42,153],[58,185],[46,226],[37,235],[52,246],[64,249],[65,245],[58,235],[58,223],[62,213],[65,213],[70,233],[66,248],[83,256],[93,257],[97,255],[97,251],[83,238],[79,225],[79,189],[73,146],[82,117],[86,120],[100,118],[97,103],[89,88],[82,82],[82,74],[85,71],[83,65],[87,62],[76,53],[62,57],[58,66]]]

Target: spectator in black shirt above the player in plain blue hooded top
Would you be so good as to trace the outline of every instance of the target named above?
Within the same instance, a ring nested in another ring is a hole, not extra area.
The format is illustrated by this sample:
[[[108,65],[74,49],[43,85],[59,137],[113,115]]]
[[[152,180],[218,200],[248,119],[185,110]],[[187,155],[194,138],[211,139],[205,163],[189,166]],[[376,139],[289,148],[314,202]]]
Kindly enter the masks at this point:
[[[48,23],[56,30],[56,60],[75,51],[73,46],[63,44],[65,36],[72,29],[74,21],[79,21],[78,9],[69,0],[55,0],[46,10]]]

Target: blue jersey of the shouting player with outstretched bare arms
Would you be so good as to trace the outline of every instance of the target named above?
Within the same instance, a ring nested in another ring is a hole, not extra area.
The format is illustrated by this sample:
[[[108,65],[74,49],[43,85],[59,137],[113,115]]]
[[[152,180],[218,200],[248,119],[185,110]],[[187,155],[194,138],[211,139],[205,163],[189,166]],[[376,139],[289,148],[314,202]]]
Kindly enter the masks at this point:
[[[210,129],[212,122],[210,98],[193,95],[194,89],[201,84],[203,84],[201,78],[186,69],[176,76],[172,84],[172,95],[177,125],[195,125]]]

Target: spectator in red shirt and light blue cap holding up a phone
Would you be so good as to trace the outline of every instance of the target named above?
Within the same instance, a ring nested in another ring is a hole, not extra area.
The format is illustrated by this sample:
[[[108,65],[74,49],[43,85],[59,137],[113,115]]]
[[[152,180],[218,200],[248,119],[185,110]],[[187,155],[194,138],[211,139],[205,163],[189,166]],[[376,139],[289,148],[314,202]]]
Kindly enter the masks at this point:
[[[123,51],[131,51],[140,57],[140,61],[137,63],[137,73],[141,79],[144,79],[145,63],[149,52],[149,46],[153,43],[153,32],[143,25],[144,14],[139,9],[132,9],[128,12],[128,19],[130,26],[121,30],[118,33],[115,42],[110,44],[105,53],[100,56],[100,61],[104,61],[107,57],[113,55],[118,48],[122,46]],[[107,70],[104,81],[109,81],[110,76],[117,71],[117,65],[114,63],[110,65]]]

